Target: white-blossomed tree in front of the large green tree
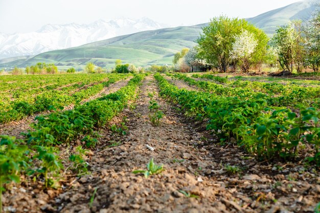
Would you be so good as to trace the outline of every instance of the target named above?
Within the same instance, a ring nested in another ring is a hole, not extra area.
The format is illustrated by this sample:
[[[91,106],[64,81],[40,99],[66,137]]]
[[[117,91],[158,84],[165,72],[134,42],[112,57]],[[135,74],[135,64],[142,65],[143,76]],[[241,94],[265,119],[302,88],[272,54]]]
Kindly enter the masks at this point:
[[[243,72],[248,72],[252,65],[251,56],[255,52],[258,41],[253,33],[243,30],[241,34],[234,36],[235,42],[232,45],[231,58],[238,62]]]

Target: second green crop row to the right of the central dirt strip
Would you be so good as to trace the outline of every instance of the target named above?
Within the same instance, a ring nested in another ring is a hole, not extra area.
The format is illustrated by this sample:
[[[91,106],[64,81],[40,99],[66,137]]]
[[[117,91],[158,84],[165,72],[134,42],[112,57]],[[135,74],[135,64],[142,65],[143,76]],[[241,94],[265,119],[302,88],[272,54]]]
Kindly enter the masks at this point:
[[[174,77],[182,79],[189,84],[196,85],[207,92],[219,94],[221,96],[238,97],[241,100],[264,99],[270,106],[289,106],[295,107],[297,103],[306,106],[320,106],[320,90],[311,88],[310,90],[304,87],[299,87],[291,92],[284,92],[281,95],[274,95],[271,91],[268,93],[255,91],[250,87],[229,87],[209,81],[196,81],[182,74],[175,74]],[[270,87],[271,90],[272,87]]]

